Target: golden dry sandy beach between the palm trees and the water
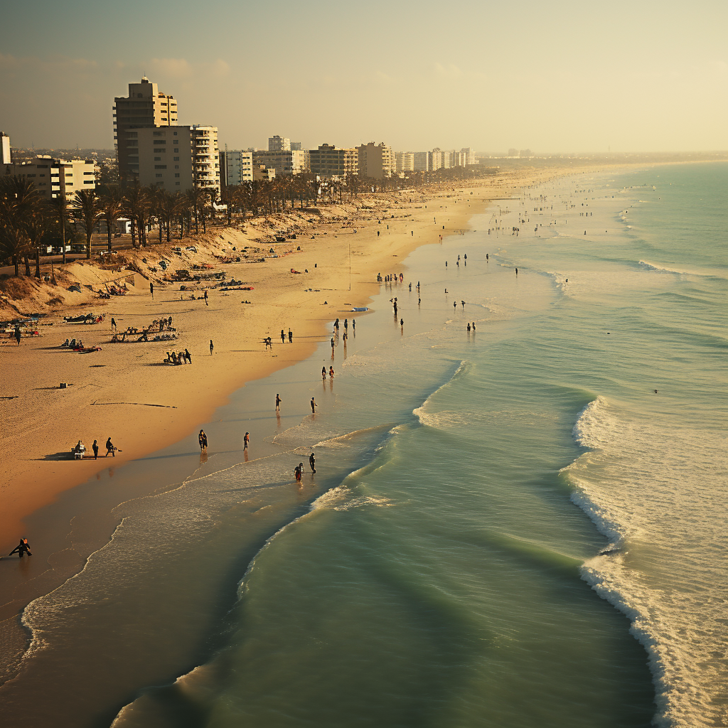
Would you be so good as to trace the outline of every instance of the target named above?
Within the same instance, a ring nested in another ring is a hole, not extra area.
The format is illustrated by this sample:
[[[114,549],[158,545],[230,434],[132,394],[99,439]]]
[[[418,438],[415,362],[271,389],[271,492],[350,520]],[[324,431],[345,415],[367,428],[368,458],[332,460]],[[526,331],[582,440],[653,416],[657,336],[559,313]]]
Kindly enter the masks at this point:
[[[318,342],[331,336],[331,321],[350,318],[352,306],[366,305],[376,293],[378,272],[402,271],[401,261],[411,250],[465,228],[488,199],[507,197],[516,186],[554,174],[529,170],[457,189],[370,195],[322,207],[320,213],[288,210],[269,220],[249,219],[245,231],[242,226],[215,227],[181,243],[150,239],[143,250],[124,251],[127,263],[142,271],[125,296],[100,300],[83,285],[98,290],[101,282],[132,270],[101,269],[84,261],[66,266],[61,274],[56,269],[63,286],[75,280],[82,293],[69,296],[63,288],[33,284],[31,301],[6,301],[26,313],[51,301],[56,311],[44,319],[52,325],[39,328],[41,337],[0,346],[0,532],[6,545],[12,547],[24,535],[23,518],[111,464],[103,457],[72,460],[69,451],[79,439],[88,454],[98,440],[103,456],[111,437],[121,448],[113,461],[118,466],[186,437],[235,389],[311,355]],[[272,245],[271,235],[283,231],[296,232],[296,240]],[[195,245],[197,253],[183,250],[176,256],[175,245]],[[215,258],[237,257],[246,246],[249,257],[240,263]],[[280,257],[271,257],[270,248]],[[261,261],[264,255],[269,257]],[[181,291],[178,283],[165,285],[160,270],[149,270],[162,256],[179,261],[173,267],[180,269],[213,264],[228,280],[241,280],[254,290],[210,288],[205,304],[205,287],[198,285],[191,300],[189,290]],[[81,302],[68,306],[74,296]],[[99,325],[63,323],[64,314],[91,310],[106,314],[106,320]],[[9,314],[6,308],[4,317]],[[176,341],[110,343],[111,317],[124,331],[170,316],[179,334]],[[288,337],[283,344],[280,332],[288,334],[289,328],[293,344]],[[272,352],[264,346],[266,336],[272,338]],[[60,348],[74,337],[102,350],[78,354]],[[191,365],[163,364],[171,349],[189,349]],[[68,387],[60,389],[60,382]]]

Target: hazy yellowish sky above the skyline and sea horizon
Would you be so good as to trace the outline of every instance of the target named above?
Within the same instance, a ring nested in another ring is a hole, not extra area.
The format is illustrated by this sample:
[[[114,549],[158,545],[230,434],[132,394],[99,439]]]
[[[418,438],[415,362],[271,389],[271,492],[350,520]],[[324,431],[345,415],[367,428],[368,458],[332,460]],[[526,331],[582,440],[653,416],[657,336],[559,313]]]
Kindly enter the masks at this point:
[[[728,0],[1,0],[0,130],[110,148],[142,74],[221,146],[728,149]]]

